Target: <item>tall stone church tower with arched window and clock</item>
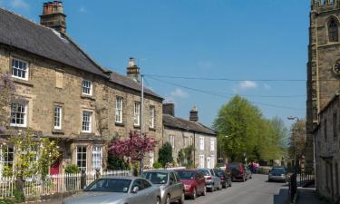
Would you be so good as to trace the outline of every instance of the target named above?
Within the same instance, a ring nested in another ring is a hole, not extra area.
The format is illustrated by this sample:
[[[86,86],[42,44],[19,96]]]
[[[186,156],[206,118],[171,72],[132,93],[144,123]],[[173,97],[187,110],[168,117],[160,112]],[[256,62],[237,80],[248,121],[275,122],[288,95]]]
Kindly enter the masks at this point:
[[[340,0],[311,0],[306,102],[306,168],[313,168],[313,131],[324,109],[340,91]]]

